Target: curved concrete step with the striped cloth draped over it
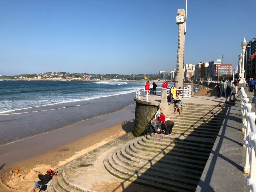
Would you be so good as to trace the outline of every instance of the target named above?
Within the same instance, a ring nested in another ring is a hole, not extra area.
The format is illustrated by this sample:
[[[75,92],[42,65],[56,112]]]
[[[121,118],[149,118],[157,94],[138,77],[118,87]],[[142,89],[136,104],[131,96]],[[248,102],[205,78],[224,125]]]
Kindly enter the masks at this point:
[[[152,134],[151,134],[152,135]],[[153,137],[151,135],[147,135],[146,139],[153,141]],[[142,138],[143,140],[144,138]],[[194,142],[189,142],[186,140],[170,140],[167,139],[166,137],[164,137],[163,139],[161,139],[161,142],[164,142],[163,145],[165,145],[166,143],[168,145],[184,145],[184,146],[191,146],[191,147],[196,147],[196,148],[204,148],[204,149],[212,149],[212,145],[207,145],[207,144],[199,144],[199,143],[194,143]]]

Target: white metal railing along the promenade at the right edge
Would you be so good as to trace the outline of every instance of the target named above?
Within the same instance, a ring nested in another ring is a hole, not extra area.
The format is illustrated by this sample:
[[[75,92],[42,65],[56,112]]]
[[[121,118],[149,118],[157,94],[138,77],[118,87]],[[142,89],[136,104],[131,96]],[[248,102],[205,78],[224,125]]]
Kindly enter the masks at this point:
[[[255,112],[251,112],[252,105],[249,98],[241,87],[241,115],[243,117],[244,141],[243,146],[246,147],[246,157],[244,165],[244,173],[250,174],[244,181],[249,192],[256,191],[256,126]]]

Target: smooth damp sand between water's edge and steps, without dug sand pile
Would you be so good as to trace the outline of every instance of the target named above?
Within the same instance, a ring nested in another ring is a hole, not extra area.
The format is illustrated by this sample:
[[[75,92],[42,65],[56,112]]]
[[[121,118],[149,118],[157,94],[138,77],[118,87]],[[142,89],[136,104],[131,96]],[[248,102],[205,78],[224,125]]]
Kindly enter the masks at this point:
[[[134,113],[135,104],[132,104],[120,111],[83,120],[65,128],[1,146],[0,174],[23,166],[58,165],[60,161],[74,155],[76,158],[87,153],[88,150],[132,131]],[[83,150],[86,148],[88,149]],[[75,152],[78,153],[75,154]]]

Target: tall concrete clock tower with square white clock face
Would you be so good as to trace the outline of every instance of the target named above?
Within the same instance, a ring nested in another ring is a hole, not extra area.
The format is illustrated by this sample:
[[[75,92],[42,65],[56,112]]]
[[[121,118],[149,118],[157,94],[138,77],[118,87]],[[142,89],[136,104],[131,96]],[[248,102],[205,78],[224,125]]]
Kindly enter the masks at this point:
[[[178,9],[176,16],[178,24],[178,53],[177,53],[177,70],[174,86],[176,88],[184,87],[184,42],[185,42],[185,10]]]

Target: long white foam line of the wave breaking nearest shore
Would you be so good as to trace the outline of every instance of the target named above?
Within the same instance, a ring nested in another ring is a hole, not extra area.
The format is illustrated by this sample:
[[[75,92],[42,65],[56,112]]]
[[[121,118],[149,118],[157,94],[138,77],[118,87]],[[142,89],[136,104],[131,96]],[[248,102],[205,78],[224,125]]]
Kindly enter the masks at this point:
[[[136,89],[129,90],[129,91],[117,92],[116,94],[100,95],[100,96],[89,97],[89,98],[82,98],[82,99],[71,99],[71,100],[67,100],[67,101],[61,101],[61,102],[56,102],[56,103],[49,103],[49,104],[45,104],[45,105],[32,106],[32,107],[26,107],[26,108],[19,108],[19,109],[12,109],[12,110],[7,110],[7,111],[0,111],[0,115],[11,115],[12,113],[8,113],[8,112],[19,111],[19,110],[24,110],[24,109],[31,109],[31,108],[38,108],[38,107],[44,107],[44,106],[50,106],[50,105],[57,105],[57,104],[62,104],[62,103],[87,101],[87,100],[91,100],[91,99],[97,99],[97,98],[103,98],[103,97],[110,97],[110,96],[128,94],[128,93],[132,93],[132,92],[136,92]],[[66,107],[64,107],[64,108],[66,108]],[[61,108],[58,108],[58,109],[61,109]],[[50,111],[50,110],[56,110],[56,109],[47,109],[47,110],[41,110],[41,111]],[[39,112],[39,111],[33,111],[33,112]],[[6,113],[8,113],[8,114],[6,114]],[[27,113],[27,112],[13,113],[13,114],[22,114],[22,113]]]

